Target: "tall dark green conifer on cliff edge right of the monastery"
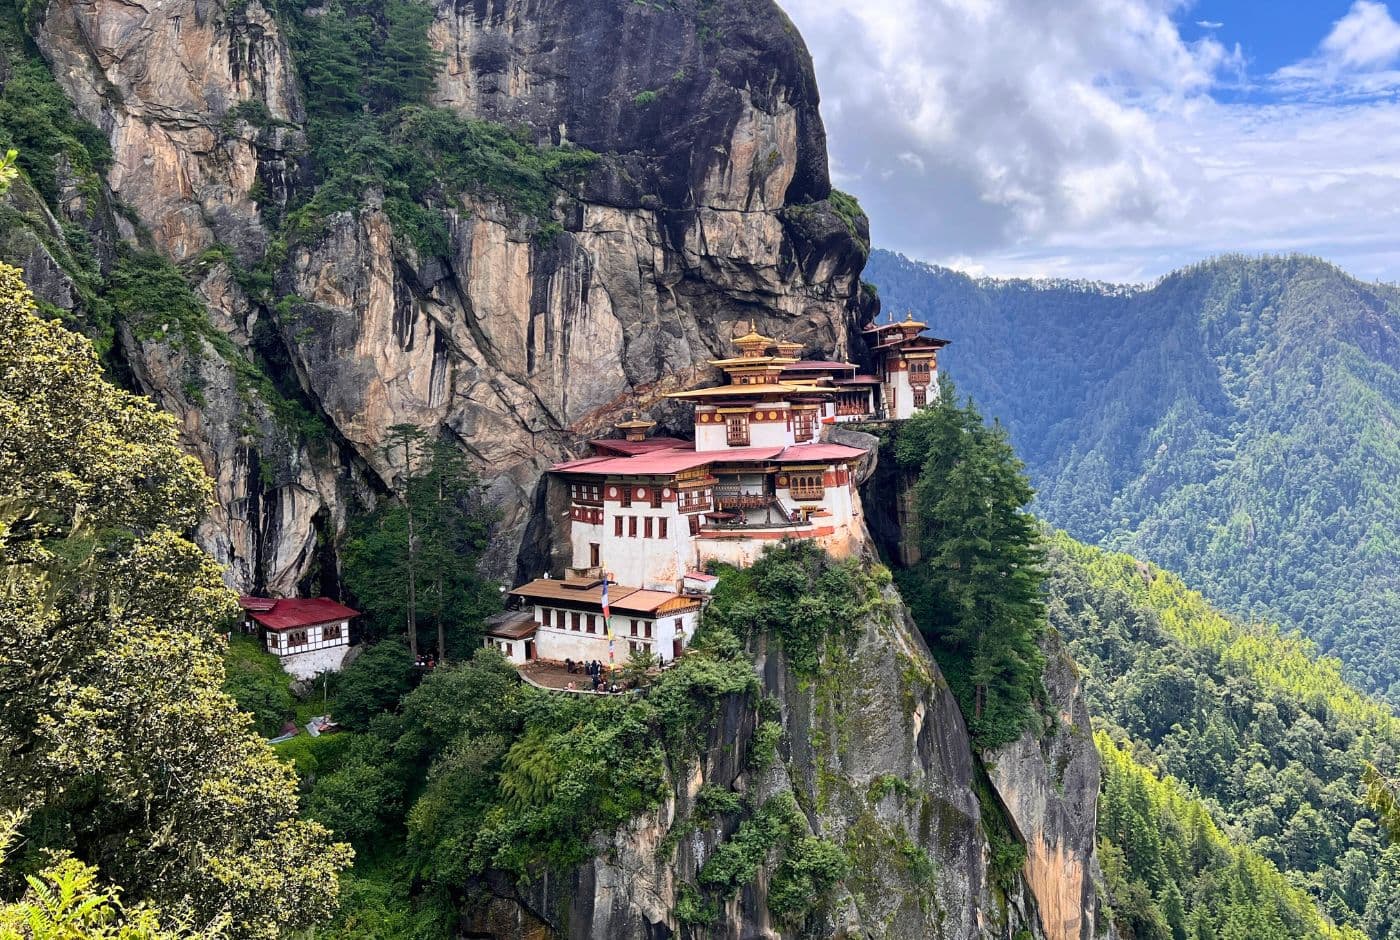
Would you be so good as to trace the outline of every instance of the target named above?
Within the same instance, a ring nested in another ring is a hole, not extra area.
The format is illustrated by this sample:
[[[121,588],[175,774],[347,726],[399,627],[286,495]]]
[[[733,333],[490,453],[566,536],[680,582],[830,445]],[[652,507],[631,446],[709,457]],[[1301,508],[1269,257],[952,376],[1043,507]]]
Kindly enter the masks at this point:
[[[921,559],[900,588],[942,653],[974,740],[995,747],[1025,727],[1044,668],[1040,534],[1025,511],[1033,492],[1005,431],[959,403],[948,378],[934,406],[899,429],[895,455],[918,475]]]

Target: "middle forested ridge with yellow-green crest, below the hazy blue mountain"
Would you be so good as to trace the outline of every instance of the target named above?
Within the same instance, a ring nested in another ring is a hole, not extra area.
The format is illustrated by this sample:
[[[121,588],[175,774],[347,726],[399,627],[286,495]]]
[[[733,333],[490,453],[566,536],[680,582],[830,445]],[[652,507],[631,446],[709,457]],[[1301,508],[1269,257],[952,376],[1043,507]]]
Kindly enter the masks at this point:
[[[1050,623],[1100,724],[1333,920],[1400,939],[1400,848],[1386,848],[1361,786],[1372,763],[1400,763],[1390,710],[1306,642],[1233,622],[1172,574],[1065,535],[1050,546]]]

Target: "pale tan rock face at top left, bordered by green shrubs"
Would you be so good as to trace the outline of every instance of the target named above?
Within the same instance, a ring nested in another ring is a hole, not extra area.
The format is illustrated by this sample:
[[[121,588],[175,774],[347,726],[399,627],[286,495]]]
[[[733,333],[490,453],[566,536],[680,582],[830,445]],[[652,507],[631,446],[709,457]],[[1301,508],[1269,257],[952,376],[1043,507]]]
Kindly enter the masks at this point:
[[[286,42],[258,0],[55,0],[35,39],[78,113],[106,132],[112,192],[167,255],[216,242],[262,252],[255,184],[260,170],[288,174],[304,113]],[[259,140],[235,120],[242,102],[290,129]]]

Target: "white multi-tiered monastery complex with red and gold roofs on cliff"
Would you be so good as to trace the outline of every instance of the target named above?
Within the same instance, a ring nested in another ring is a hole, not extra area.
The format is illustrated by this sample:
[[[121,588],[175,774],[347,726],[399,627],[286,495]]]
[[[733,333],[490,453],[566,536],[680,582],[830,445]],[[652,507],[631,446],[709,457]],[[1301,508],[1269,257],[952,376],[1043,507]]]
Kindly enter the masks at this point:
[[[573,566],[511,591],[522,609],[487,623],[486,644],[512,663],[609,660],[645,649],[685,651],[713,587],[708,562],[745,567],[781,539],[812,539],[832,555],[860,545],[858,447],[822,440],[841,422],[899,420],[937,398],[938,350],[910,315],[865,331],[878,374],[851,363],[802,360],[801,345],[749,329],[738,354],[714,360],[727,382],[673,392],[694,403],[694,438],[647,437],[633,416],[594,455],[553,466],[568,486]],[[606,584],[608,614],[603,590]]]

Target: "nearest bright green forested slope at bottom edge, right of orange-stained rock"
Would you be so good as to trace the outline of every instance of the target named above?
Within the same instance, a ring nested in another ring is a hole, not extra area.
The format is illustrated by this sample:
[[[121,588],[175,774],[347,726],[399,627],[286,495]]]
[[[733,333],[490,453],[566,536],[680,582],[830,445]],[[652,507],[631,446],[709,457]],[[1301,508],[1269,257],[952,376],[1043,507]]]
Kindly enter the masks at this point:
[[[1106,733],[1095,744],[1103,762],[1099,860],[1124,936],[1362,940],[1322,916],[1270,862],[1231,842],[1175,780],[1135,763]]]

